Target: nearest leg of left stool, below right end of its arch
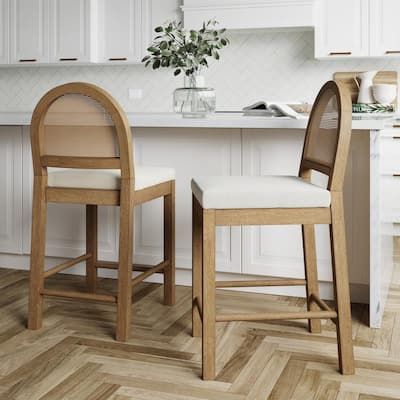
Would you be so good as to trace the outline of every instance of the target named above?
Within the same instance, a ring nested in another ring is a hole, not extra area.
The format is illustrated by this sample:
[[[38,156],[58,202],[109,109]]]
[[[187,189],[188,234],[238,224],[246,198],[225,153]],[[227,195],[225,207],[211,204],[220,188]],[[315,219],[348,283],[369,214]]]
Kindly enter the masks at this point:
[[[132,307],[132,252],[133,252],[133,184],[121,182],[119,218],[119,267],[116,339],[129,339]]]

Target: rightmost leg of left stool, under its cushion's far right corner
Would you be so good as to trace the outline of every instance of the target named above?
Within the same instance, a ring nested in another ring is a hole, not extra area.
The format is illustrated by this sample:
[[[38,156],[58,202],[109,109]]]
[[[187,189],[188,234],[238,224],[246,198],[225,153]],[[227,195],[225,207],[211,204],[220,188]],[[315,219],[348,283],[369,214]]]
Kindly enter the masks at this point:
[[[164,270],[164,304],[175,304],[175,182],[171,194],[164,196],[164,260],[169,261]]]

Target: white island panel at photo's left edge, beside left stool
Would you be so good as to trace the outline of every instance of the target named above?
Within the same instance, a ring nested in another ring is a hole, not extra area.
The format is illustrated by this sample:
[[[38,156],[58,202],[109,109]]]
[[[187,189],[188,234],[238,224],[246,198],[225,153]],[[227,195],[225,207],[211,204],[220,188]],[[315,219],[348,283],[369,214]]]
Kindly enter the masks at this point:
[[[22,252],[22,128],[0,127],[0,252]]]

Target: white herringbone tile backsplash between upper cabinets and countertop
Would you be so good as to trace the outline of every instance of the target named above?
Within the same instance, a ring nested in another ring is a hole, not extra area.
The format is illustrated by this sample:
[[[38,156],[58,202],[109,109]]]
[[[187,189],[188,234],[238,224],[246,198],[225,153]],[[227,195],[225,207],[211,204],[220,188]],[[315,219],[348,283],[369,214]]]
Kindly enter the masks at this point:
[[[218,108],[258,100],[311,102],[335,71],[400,69],[395,59],[315,60],[311,31],[235,32],[230,38],[221,60],[205,73],[207,84],[217,89]],[[49,88],[69,81],[98,84],[131,112],[171,111],[172,92],[182,85],[182,77],[174,78],[172,71],[142,65],[1,68],[0,111],[31,111]],[[142,89],[143,98],[130,100],[128,88]]]

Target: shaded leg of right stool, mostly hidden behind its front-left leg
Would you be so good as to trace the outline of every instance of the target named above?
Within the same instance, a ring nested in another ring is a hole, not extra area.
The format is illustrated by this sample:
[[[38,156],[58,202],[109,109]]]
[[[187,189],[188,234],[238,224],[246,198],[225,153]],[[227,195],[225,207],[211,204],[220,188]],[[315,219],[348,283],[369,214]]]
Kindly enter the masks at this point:
[[[192,200],[192,336],[201,336],[200,311],[203,308],[203,208]]]

